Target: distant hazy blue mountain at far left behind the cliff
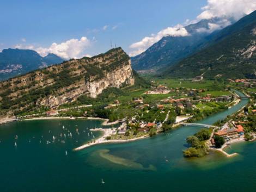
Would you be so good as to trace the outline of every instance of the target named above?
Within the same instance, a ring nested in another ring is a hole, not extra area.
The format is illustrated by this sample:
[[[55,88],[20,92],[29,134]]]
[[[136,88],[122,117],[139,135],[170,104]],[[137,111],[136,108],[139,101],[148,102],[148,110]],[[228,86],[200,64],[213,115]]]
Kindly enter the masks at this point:
[[[3,49],[0,53],[0,80],[62,62],[63,59],[55,54],[41,57],[29,49]]]

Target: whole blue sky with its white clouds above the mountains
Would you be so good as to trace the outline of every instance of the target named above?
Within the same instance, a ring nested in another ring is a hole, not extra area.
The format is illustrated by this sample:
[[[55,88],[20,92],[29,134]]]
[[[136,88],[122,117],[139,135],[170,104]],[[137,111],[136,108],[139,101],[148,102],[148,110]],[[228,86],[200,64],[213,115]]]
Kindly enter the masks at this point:
[[[256,0],[1,1],[0,51],[34,49],[64,59],[122,47],[139,54],[163,36],[189,35],[184,26],[204,18],[256,10]]]

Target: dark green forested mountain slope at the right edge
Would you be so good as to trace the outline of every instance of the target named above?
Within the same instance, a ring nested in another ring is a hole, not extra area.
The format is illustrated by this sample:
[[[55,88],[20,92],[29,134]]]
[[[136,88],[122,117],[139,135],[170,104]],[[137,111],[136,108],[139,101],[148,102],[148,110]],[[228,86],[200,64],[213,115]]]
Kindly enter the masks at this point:
[[[170,66],[163,76],[256,78],[256,11],[211,36],[208,46]]]

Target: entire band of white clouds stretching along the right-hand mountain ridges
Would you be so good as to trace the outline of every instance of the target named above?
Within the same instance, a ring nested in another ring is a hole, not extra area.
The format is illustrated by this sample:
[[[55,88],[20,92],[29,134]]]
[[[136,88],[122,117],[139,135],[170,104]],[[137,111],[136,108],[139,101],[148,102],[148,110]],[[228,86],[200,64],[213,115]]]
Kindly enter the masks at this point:
[[[218,22],[208,24],[208,28],[197,29],[198,33],[212,33],[215,30],[222,29],[229,26],[231,23],[230,18],[239,20],[241,17],[252,13],[256,10],[255,0],[208,0],[208,4],[202,8],[203,12],[194,20],[186,20],[184,26],[188,24],[197,23],[203,19],[211,19],[219,17]],[[164,36],[187,36],[189,35],[186,29],[180,25],[175,27],[168,27],[161,30],[157,35],[146,36],[141,41],[133,43],[130,48],[132,51],[130,56],[138,55],[144,52],[147,48],[155,42],[162,39]]]

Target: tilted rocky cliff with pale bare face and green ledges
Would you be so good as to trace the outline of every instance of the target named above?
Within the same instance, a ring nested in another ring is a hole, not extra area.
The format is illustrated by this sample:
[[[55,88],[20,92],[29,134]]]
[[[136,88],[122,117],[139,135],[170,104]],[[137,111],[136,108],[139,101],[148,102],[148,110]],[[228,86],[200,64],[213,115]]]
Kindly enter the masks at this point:
[[[133,85],[131,61],[121,48],[93,58],[73,59],[0,83],[2,111],[55,108],[86,94],[96,97],[108,87]]]

